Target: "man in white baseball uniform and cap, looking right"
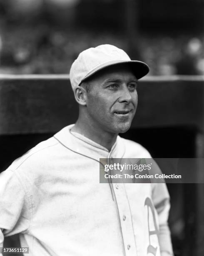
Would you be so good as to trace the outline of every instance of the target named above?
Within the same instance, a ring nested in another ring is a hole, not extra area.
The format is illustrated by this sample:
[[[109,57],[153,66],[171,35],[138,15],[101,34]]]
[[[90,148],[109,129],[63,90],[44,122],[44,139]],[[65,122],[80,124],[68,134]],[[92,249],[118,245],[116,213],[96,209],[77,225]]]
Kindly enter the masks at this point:
[[[76,124],[0,175],[0,246],[20,233],[33,256],[173,255],[164,183],[99,183],[100,158],[151,157],[118,136],[130,128],[137,80],[148,72],[111,45],[78,56],[70,69]]]

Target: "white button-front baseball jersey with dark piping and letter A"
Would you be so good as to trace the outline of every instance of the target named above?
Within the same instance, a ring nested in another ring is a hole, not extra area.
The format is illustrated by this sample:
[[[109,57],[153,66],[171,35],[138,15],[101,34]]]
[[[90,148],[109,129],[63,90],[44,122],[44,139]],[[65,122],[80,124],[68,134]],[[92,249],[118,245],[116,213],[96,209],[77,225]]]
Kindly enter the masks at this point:
[[[100,158],[148,158],[117,137],[111,151],[69,125],[0,174],[0,246],[20,233],[30,256],[172,253],[166,184],[100,184]],[[27,254],[25,254],[27,255]]]

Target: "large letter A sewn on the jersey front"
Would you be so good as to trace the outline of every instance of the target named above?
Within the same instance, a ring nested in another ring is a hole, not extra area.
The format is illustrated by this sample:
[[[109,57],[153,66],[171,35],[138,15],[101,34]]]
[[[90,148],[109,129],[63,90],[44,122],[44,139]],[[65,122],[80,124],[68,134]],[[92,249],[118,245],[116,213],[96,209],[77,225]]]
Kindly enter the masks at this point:
[[[157,223],[156,223],[156,218],[155,218],[155,213],[154,213],[154,206],[152,205],[152,201],[150,200],[149,197],[146,198],[145,202],[144,202],[144,206],[147,205],[147,218],[148,218],[148,231],[149,231],[149,246],[147,247],[147,254],[148,253],[152,253],[154,256],[156,256],[157,253],[157,247],[154,247],[151,245],[150,242],[150,236],[152,235],[157,235],[157,238],[159,236],[159,230],[157,228]],[[152,217],[153,217],[153,221],[154,221],[154,230],[150,230],[150,225],[149,225],[149,210],[151,210],[152,212]]]

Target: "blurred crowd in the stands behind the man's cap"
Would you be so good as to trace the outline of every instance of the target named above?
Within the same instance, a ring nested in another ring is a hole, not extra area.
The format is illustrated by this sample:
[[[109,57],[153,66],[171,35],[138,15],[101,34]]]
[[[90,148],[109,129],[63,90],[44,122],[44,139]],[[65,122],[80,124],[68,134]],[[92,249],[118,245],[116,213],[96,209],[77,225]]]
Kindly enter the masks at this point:
[[[66,74],[80,51],[99,44],[114,44],[128,51],[124,31],[75,26],[79,3],[0,0],[0,74]],[[149,64],[150,75],[204,74],[201,33],[139,33],[137,39],[135,48]]]

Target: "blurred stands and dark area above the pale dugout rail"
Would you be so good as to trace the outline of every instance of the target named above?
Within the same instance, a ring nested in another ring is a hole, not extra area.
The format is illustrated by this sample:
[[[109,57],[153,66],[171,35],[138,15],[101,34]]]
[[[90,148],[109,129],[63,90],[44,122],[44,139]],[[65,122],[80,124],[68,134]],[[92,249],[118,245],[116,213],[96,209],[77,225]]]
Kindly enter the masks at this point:
[[[0,73],[67,74],[114,44],[149,75],[203,74],[204,0],[0,0]]]

